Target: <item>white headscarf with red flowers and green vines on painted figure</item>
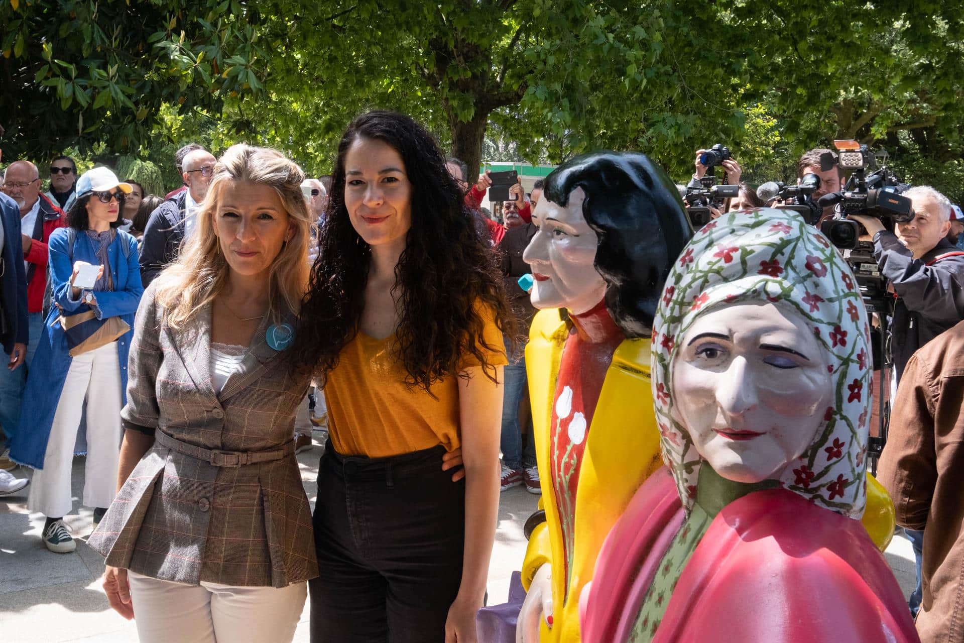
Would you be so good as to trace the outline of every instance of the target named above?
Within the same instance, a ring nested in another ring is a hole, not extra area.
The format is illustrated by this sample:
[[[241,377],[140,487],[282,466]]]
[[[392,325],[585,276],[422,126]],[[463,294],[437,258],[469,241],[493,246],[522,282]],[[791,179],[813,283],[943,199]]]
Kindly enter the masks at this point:
[[[712,308],[760,302],[793,308],[812,325],[833,377],[831,406],[815,441],[779,482],[859,519],[867,497],[872,388],[867,312],[850,267],[826,237],[795,213],[770,208],[727,214],[697,232],[674,264],[656,310],[656,419],[663,460],[683,505],[688,513],[703,461],[671,413],[678,338]]]

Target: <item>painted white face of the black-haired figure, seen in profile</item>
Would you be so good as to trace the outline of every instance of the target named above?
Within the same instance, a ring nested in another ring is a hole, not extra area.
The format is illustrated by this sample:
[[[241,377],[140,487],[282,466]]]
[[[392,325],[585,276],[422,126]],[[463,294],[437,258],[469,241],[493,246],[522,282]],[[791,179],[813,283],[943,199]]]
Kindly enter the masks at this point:
[[[541,199],[532,212],[538,230],[522,260],[535,280],[529,297],[536,308],[581,314],[603,301],[606,284],[594,265],[599,238],[582,216],[585,197],[576,188],[566,207]]]

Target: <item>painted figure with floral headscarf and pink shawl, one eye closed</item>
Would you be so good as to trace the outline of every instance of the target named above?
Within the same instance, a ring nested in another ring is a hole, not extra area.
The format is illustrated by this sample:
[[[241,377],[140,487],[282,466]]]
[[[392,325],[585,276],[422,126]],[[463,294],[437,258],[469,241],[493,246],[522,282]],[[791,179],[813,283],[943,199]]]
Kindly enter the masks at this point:
[[[860,522],[871,368],[856,280],[819,231],[772,209],[700,230],[654,324],[667,467],[605,540],[582,639],[918,641]]]

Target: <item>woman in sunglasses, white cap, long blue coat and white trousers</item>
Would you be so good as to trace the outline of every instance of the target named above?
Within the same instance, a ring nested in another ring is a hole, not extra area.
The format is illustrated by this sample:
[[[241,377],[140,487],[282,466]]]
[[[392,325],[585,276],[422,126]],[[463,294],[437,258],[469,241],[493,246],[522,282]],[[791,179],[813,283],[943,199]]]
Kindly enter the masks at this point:
[[[76,549],[63,517],[72,509],[70,471],[85,401],[83,502],[94,508],[94,523],[116,491],[130,329],[144,292],[137,241],[118,229],[129,193],[130,185],[109,169],[94,168],[77,179],[67,228],[50,235],[53,306],[27,378],[23,399],[29,413],[20,415],[11,458],[36,469],[27,507],[46,517],[43,544],[58,553]],[[91,272],[84,266],[99,267],[93,287],[74,284],[82,271]],[[70,317],[90,311],[93,319],[73,326],[67,335]],[[111,317],[120,317],[126,332],[114,335],[111,329],[122,331],[123,325],[111,323]]]

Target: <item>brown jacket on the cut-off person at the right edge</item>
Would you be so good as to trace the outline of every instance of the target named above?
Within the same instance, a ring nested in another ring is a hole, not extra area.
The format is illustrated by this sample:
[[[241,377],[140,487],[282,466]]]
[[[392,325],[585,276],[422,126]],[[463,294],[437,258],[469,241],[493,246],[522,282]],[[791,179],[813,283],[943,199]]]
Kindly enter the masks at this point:
[[[877,478],[924,530],[921,640],[964,641],[964,322],[907,362]]]

